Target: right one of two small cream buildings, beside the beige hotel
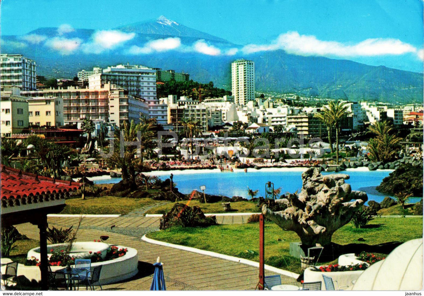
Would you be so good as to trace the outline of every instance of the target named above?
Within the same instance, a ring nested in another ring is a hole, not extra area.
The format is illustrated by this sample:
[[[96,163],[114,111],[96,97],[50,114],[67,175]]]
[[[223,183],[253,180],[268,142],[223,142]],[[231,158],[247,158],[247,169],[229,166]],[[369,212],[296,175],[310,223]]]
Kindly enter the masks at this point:
[[[63,126],[63,99],[35,97],[28,99],[28,124],[30,126]]]

